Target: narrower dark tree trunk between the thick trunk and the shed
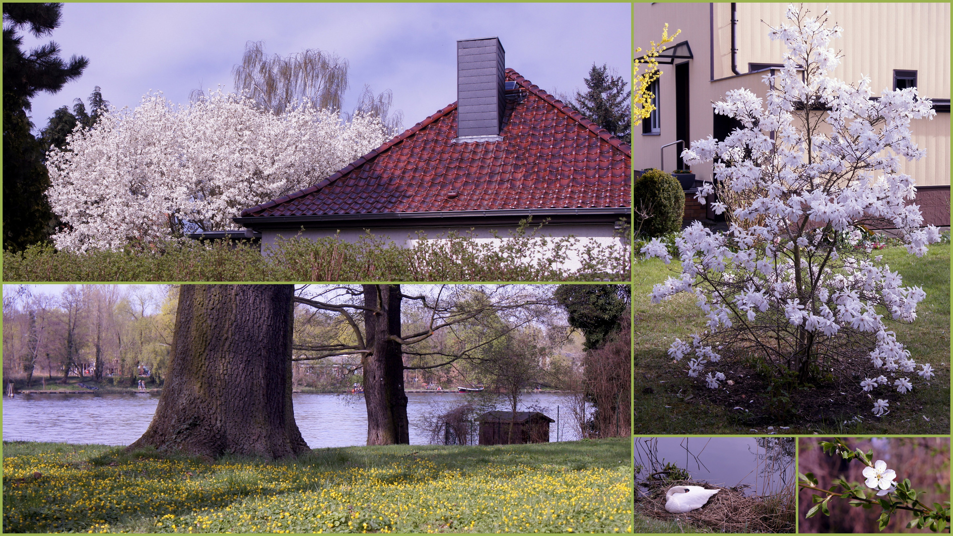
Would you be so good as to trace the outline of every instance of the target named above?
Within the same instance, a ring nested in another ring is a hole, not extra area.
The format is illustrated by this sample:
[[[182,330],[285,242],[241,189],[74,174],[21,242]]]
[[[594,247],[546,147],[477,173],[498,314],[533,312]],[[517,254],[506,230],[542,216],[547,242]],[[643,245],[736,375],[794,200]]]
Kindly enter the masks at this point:
[[[408,444],[407,394],[400,342],[400,285],[363,285],[364,402],[367,404],[368,444]]]

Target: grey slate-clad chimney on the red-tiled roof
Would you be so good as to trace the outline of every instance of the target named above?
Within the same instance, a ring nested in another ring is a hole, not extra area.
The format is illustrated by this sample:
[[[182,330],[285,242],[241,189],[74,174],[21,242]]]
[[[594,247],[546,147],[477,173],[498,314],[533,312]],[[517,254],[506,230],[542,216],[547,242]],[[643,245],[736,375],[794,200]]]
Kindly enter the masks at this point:
[[[500,141],[503,118],[503,46],[496,37],[456,42],[456,139]]]

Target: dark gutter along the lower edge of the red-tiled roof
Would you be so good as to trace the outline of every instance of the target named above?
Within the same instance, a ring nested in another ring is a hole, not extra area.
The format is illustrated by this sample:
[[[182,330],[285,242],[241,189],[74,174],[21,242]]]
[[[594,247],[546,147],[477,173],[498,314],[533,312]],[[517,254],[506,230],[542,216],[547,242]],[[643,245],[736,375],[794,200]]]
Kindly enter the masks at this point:
[[[552,224],[615,223],[629,217],[632,209],[578,208],[578,209],[511,209],[485,211],[439,211],[377,214],[340,214],[320,216],[245,216],[233,218],[235,223],[258,232],[262,229],[343,229],[366,227],[442,227],[448,225],[483,226],[517,224],[519,220],[534,218],[534,223],[548,220]]]

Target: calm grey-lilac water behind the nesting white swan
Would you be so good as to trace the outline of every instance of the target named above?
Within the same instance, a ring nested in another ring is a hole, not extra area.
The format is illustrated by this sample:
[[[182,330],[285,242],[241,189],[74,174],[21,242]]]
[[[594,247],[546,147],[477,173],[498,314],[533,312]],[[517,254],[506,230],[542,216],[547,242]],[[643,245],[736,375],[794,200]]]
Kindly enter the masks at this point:
[[[719,487],[748,484],[750,494],[775,493],[794,479],[791,438],[637,438],[635,443],[636,465],[651,467],[637,482],[669,462],[687,469],[693,480]]]

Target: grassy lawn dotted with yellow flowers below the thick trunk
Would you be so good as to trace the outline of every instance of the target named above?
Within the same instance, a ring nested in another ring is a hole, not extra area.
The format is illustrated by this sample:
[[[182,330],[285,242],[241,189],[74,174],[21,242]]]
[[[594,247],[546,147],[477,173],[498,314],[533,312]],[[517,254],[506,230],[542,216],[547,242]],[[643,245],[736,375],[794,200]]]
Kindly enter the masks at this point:
[[[208,463],[4,443],[4,532],[625,532],[628,438]],[[35,476],[39,473],[41,476]]]

